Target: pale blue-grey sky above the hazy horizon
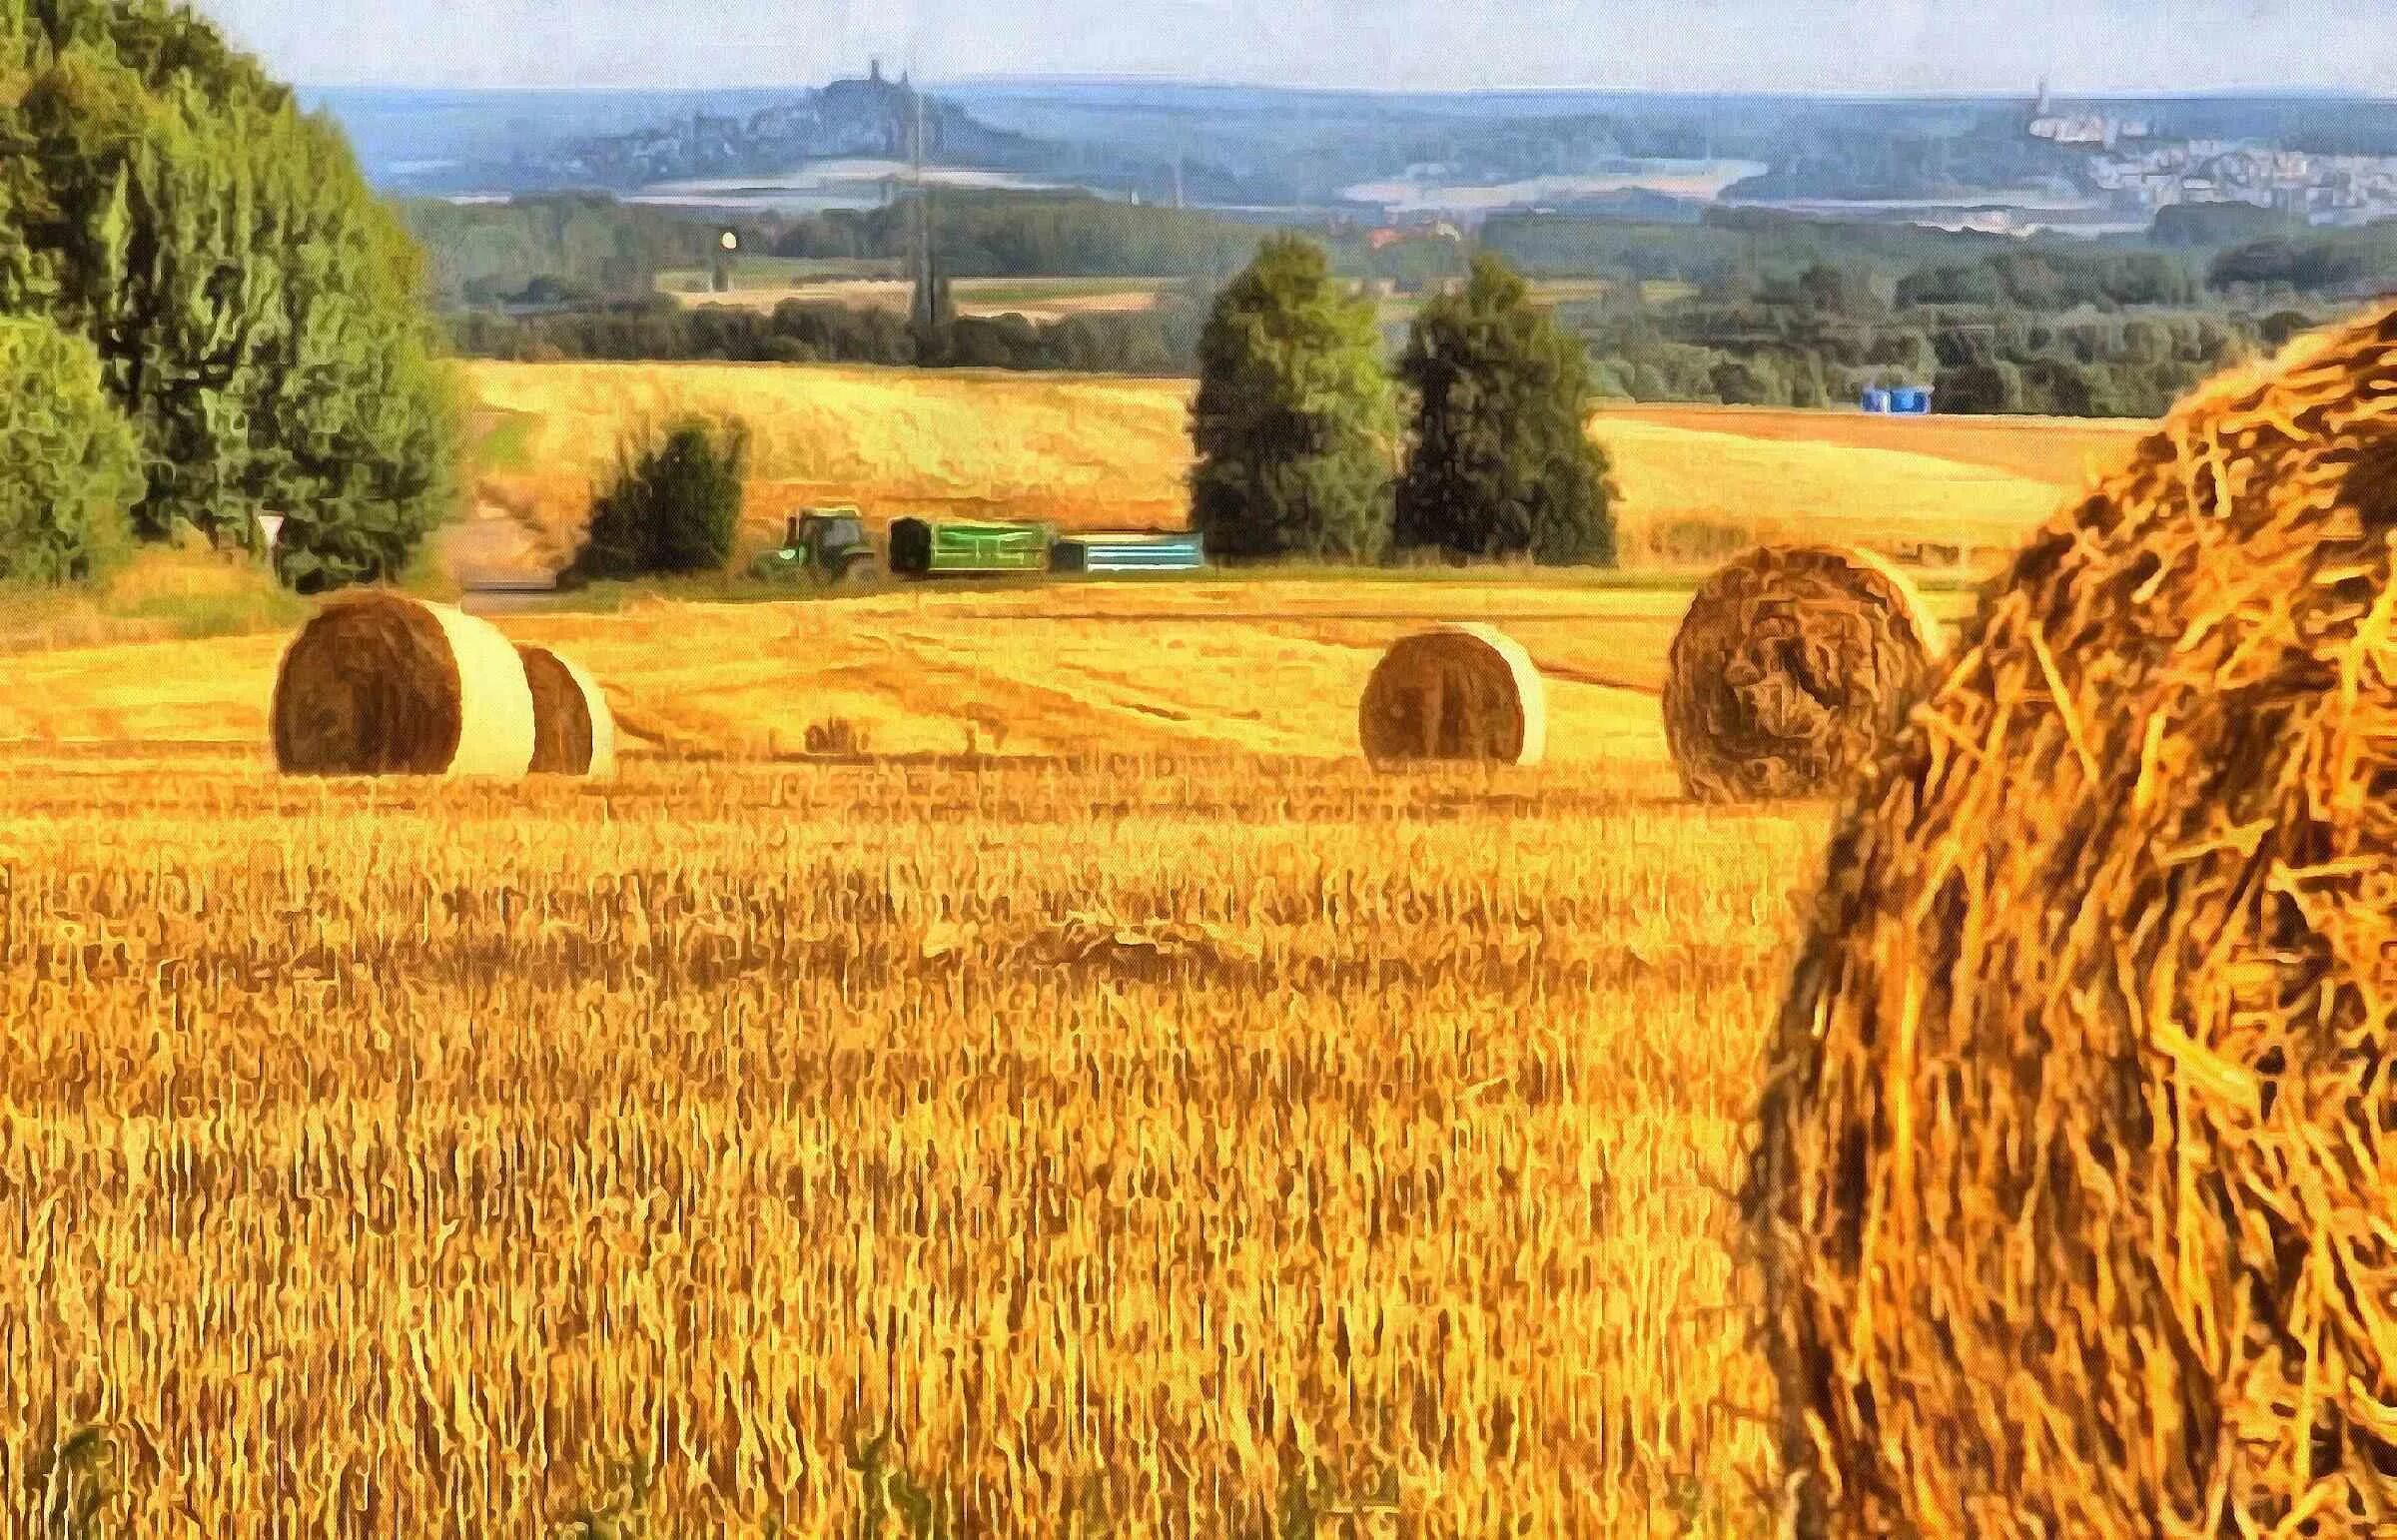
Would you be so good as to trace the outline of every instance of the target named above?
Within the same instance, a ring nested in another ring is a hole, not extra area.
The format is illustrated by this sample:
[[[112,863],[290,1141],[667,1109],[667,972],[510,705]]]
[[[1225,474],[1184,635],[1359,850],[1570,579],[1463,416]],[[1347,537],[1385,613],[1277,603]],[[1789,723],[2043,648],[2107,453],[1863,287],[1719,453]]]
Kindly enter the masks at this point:
[[[302,84],[2397,94],[2397,0],[199,0]]]

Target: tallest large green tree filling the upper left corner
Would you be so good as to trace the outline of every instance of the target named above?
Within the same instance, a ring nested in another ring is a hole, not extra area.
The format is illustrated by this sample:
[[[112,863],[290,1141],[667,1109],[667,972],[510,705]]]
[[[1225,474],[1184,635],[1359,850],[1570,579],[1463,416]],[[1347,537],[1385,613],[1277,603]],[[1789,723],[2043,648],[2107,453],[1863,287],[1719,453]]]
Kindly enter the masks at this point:
[[[393,576],[453,499],[417,252],[340,132],[161,0],[0,0],[0,309],[91,338],[141,439],[139,535],[300,588]]]

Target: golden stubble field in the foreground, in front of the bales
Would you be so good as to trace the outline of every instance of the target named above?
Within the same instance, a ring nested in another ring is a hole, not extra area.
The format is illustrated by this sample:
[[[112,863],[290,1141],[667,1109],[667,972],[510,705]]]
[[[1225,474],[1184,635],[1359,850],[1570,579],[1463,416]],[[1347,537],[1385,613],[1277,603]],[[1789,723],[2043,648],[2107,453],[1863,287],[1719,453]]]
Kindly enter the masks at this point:
[[[14,744],[0,1480],[141,1535],[1752,1533],[1723,1187],[1822,832],[1654,758]]]

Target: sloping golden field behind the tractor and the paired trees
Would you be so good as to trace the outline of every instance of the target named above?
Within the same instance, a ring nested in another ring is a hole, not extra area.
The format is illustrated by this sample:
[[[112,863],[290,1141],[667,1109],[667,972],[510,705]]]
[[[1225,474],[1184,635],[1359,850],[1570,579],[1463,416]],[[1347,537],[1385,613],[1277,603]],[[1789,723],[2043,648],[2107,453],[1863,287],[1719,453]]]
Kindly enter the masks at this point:
[[[484,513],[573,549],[621,432],[676,410],[755,429],[750,535],[791,506],[1182,525],[1191,386],[1172,379],[774,365],[467,365]],[[1759,537],[1838,537],[1985,569],[2141,425],[2042,417],[1604,408],[1632,566],[1707,566]]]

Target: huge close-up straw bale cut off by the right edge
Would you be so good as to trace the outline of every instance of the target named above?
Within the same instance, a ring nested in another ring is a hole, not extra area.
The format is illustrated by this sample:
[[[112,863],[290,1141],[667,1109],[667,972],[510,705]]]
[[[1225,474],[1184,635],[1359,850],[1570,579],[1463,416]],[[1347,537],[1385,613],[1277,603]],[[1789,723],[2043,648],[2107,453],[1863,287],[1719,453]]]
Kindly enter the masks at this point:
[[[2059,513],[1843,816],[1745,1187],[1798,1533],[2392,1533],[2392,540],[2378,309]]]

